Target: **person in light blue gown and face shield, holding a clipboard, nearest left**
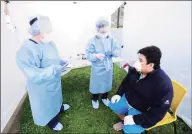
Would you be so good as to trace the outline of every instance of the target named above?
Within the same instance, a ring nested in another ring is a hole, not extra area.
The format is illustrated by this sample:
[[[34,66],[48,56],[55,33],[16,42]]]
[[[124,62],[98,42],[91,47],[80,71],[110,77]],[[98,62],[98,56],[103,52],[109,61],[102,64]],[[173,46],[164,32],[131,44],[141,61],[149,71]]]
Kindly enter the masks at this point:
[[[36,125],[48,125],[60,131],[63,125],[58,121],[58,114],[70,108],[62,104],[61,89],[61,73],[68,61],[60,58],[48,35],[52,32],[49,17],[30,17],[29,25],[32,37],[17,51],[16,61],[27,78],[33,120]]]

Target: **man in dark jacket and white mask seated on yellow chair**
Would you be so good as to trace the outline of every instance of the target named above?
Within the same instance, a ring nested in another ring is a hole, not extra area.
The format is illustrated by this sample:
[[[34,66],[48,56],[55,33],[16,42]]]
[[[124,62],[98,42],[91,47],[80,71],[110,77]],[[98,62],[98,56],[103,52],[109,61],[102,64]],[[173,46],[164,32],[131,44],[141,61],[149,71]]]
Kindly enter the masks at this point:
[[[161,121],[172,102],[172,82],[160,68],[160,49],[149,46],[138,54],[139,60],[133,67],[129,66],[117,95],[109,103],[121,119],[113,126],[116,131],[141,133]]]

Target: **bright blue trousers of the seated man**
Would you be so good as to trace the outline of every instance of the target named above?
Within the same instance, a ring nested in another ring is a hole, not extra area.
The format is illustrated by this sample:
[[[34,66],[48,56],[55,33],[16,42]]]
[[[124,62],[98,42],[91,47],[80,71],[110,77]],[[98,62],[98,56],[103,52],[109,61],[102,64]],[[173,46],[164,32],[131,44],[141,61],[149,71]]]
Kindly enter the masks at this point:
[[[111,108],[116,114],[124,115],[125,113],[128,113],[128,115],[137,115],[141,114],[140,111],[137,109],[131,107],[127,99],[125,98],[125,94],[121,97],[119,102],[117,103],[109,103],[109,108]],[[124,125],[123,131],[124,133],[142,133],[145,130],[145,128],[141,127],[140,125]]]

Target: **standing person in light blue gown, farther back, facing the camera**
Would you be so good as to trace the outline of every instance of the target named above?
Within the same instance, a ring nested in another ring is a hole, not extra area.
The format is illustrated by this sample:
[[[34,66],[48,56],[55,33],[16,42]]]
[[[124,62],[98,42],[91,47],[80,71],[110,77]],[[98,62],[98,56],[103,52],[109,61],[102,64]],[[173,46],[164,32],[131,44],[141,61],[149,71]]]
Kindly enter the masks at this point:
[[[91,78],[89,91],[92,94],[92,106],[99,108],[99,94],[102,102],[108,106],[108,92],[112,89],[113,61],[112,57],[120,56],[120,46],[109,33],[109,22],[101,17],[96,22],[97,34],[86,48],[87,59],[91,62]]]

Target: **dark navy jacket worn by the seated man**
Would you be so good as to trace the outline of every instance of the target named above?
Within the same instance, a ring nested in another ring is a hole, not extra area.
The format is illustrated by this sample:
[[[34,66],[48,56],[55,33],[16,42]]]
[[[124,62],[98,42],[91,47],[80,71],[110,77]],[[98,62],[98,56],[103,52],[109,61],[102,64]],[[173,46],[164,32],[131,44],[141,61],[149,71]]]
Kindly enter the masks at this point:
[[[149,128],[161,121],[170,109],[173,87],[170,78],[160,68],[140,79],[135,68],[129,67],[117,94],[125,94],[129,104],[142,112],[133,116],[135,124]]]

